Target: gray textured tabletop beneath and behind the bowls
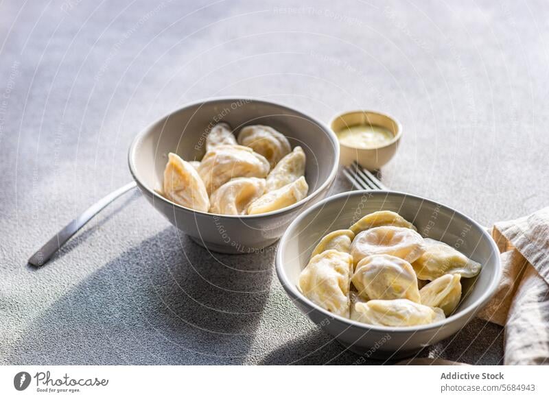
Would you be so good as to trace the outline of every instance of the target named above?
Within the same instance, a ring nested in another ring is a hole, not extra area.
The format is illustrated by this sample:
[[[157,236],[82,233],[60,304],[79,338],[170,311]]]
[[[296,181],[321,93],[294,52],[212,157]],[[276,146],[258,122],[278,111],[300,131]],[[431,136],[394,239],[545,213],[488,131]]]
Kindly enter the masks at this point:
[[[209,254],[137,193],[47,267],[25,265],[130,180],[132,137],[186,101],[253,95],[326,121],[384,110],[404,125],[393,189],[484,224],[546,205],[543,3],[310,4],[0,4],[1,363],[357,360],[286,298],[274,248]],[[502,336],[476,320],[423,355],[499,363]]]

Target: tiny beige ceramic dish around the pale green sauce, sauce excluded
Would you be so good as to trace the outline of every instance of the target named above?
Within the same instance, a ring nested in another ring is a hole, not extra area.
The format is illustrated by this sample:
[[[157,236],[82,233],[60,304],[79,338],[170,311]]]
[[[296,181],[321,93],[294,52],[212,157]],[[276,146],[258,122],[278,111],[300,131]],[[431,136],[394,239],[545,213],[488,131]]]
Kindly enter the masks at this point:
[[[357,161],[369,171],[381,169],[397,152],[402,136],[402,125],[397,119],[390,117],[388,114],[368,110],[344,112],[336,115],[330,122],[331,130],[336,133],[344,128],[356,125],[381,126],[393,134],[393,139],[385,145],[375,148],[351,147],[340,143],[341,165],[351,165],[353,161]]]

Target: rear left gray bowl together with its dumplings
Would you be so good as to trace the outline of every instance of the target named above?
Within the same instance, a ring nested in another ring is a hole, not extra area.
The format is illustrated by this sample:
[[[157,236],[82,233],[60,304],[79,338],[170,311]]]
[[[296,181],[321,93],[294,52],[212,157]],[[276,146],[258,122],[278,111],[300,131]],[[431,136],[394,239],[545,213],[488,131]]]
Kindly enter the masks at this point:
[[[264,251],[336,178],[338,139],[303,112],[260,99],[200,101],[139,134],[128,154],[148,202],[215,252]]]

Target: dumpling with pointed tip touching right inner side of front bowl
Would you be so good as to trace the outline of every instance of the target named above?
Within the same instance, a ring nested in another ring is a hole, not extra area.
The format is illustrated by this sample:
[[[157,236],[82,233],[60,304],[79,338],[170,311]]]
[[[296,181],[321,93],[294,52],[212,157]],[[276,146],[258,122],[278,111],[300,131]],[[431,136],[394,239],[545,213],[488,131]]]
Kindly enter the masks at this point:
[[[481,265],[441,241],[425,239],[425,252],[412,267],[421,280],[434,280],[445,274],[474,277],[480,273]]]

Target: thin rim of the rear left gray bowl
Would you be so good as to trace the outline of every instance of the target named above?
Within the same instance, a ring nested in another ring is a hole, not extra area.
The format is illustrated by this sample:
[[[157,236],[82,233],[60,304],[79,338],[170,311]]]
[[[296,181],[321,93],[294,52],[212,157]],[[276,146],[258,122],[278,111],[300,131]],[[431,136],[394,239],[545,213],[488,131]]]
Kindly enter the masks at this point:
[[[176,114],[178,112],[182,112],[183,110],[185,110],[187,108],[196,107],[196,106],[198,106],[200,108],[200,106],[203,106],[204,104],[213,103],[213,102],[220,102],[220,101],[232,101],[232,102],[247,101],[247,102],[250,102],[250,103],[256,103],[256,104],[260,103],[260,104],[268,104],[270,106],[277,106],[279,108],[282,108],[283,110],[288,110],[288,111],[294,112],[296,114],[299,114],[300,117],[303,117],[304,119],[308,119],[309,121],[312,121],[313,123],[318,125],[321,128],[321,130],[323,130],[325,132],[325,134],[328,136],[328,138],[331,140],[331,142],[333,144],[333,147],[334,147],[334,152],[335,152],[335,155],[336,155],[336,157],[334,158],[334,165],[332,165],[332,167],[331,167],[331,171],[329,173],[328,178],[325,180],[325,182],[320,184],[320,186],[318,186],[318,188],[315,191],[313,191],[312,193],[308,193],[305,198],[301,199],[301,201],[296,202],[295,204],[292,204],[290,206],[286,206],[285,208],[282,208],[282,209],[272,210],[272,211],[266,212],[266,213],[259,213],[257,215],[222,215],[222,214],[219,214],[219,213],[202,212],[201,210],[195,210],[195,209],[187,208],[185,206],[181,206],[179,204],[176,204],[175,202],[170,201],[170,199],[167,199],[167,198],[163,197],[163,195],[160,195],[159,193],[156,193],[156,191],[154,191],[154,189],[150,189],[143,182],[141,182],[141,180],[137,177],[137,173],[136,173],[136,170],[135,170],[136,169],[135,168],[135,162],[134,162],[134,158],[135,158],[135,155],[136,155],[135,153],[137,151],[137,143],[139,143],[141,141],[141,139],[146,134],[148,134],[148,132],[150,132],[150,130],[155,125],[157,125],[158,123],[161,123],[161,121],[169,118],[173,114]],[[265,99],[260,99],[259,97],[250,97],[250,96],[242,96],[242,97],[234,97],[234,96],[229,96],[229,97],[208,97],[208,98],[205,98],[205,99],[200,99],[200,100],[197,100],[197,101],[189,102],[189,103],[181,106],[180,108],[177,108],[176,110],[172,110],[170,112],[167,112],[162,117],[160,117],[159,119],[156,119],[154,122],[150,123],[145,128],[143,128],[143,130],[141,130],[141,132],[139,132],[135,136],[135,138],[133,138],[132,143],[130,144],[130,147],[128,149],[128,167],[130,169],[130,173],[132,175],[132,178],[135,180],[135,182],[137,182],[138,186],[141,189],[144,189],[149,195],[151,195],[153,199],[159,199],[161,202],[165,202],[166,204],[174,206],[174,208],[179,208],[180,210],[184,210],[184,211],[187,211],[187,212],[198,213],[198,214],[207,215],[207,216],[211,216],[211,217],[213,217],[213,216],[215,216],[215,217],[226,217],[226,218],[229,218],[229,219],[259,219],[261,217],[268,217],[268,216],[273,216],[273,215],[284,215],[285,213],[292,212],[296,208],[302,207],[303,205],[307,204],[307,202],[309,202],[309,200],[313,199],[314,197],[317,197],[318,194],[322,193],[325,189],[327,189],[334,182],[334,179],[336,178],[336,174],[338,173],[339,158],[340,158],[339,140],[338,140],[336,134],[334,133],[334,131],[331,130],[331,128],[326,123],[323,123],[322,121],[316,119],[315,117],[312,117],[311,115],[309,115],[309,114],[307,114],[307,113],[305,113],[301,110],[298,110],[296,108],[292,108],[290,106],[286,106],[286,105],[281,104],[277,101],[267,101]]]

